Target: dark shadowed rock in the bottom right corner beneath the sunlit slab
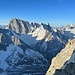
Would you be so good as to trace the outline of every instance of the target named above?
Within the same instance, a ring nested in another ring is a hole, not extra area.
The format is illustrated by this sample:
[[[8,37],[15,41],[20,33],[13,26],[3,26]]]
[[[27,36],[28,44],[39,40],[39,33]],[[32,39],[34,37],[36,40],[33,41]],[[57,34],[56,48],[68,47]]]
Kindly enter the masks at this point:
[[[57,69],[54,75],[75,75],[75,50],[62,69]]]

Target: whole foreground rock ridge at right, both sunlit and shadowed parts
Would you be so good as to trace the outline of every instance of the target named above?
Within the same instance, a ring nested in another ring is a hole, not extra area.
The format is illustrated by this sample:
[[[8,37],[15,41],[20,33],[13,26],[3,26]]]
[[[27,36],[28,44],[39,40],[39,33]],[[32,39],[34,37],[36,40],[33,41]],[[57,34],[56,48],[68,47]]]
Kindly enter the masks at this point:
[[[52,59],[46,75],[75,75],[75,39],[69,40],[65,48]],[[54,74],[55,73],[55,74]]]

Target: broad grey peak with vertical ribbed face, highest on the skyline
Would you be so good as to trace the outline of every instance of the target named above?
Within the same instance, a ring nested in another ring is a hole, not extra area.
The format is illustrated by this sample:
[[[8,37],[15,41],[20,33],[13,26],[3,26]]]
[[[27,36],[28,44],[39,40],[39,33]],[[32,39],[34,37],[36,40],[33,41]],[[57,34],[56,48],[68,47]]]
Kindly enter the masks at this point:
[[[16,33],[22,33],[22,34],[26,34],[31,31],[29,22],[16,19],[16,18],[10,21],[9,25],[7,26],[7,29],[10,29],[15,31]]]

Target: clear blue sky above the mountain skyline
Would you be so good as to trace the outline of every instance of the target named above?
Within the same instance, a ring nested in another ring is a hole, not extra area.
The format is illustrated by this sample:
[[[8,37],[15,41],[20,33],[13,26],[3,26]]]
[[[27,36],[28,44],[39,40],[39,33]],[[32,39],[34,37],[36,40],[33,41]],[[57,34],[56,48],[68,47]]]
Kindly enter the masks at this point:
[[[0,0],[0,24],[12,18],[62,26],[75,23],[75,0]]]

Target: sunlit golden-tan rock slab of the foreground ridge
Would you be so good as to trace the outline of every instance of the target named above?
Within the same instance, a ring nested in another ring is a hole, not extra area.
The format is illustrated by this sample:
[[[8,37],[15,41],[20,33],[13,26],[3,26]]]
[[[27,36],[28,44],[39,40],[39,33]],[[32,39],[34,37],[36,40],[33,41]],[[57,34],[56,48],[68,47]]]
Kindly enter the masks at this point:
[[[75,39],[69,40],[68,43],[66,44],[66,47],[62,49],[61,52],[58,53],[56,57],[52,59],[52,63],[46,75],[53,75],[56,69],[61,69],[61,68],[63,69],[63,66],[66,64],[66,62],[70,60],[70,57],[74,51],[75,51]],[[61,74],[58,74],[58,75],[61,75]]]

